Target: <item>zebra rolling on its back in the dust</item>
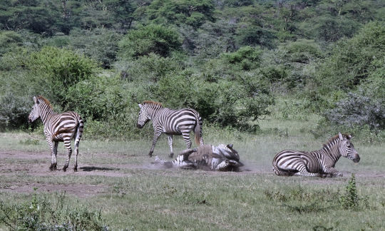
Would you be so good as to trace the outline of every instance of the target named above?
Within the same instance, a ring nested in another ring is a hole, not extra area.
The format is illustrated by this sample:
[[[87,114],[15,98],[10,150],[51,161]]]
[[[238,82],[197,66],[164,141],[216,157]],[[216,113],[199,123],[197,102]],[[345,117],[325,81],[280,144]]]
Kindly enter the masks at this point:
[[[155,165],[163,168],[200,168],[206,170],[238,171],[240,163],[238,152],[232,144],[202,145],[198,148],[184,150],[175,160],[165,161],[155,157]]]

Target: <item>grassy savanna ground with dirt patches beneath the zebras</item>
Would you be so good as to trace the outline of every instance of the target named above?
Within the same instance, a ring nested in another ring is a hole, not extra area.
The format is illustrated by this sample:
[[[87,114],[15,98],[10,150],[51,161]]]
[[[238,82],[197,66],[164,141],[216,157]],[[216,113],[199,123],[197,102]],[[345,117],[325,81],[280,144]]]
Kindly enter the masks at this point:
[[[49,171],[49,150],[41,134],[0,133],[0,198],[29,202],[32,195],[56,200],[66,192],[69,206],[101,211],[110,230],[385,230],[385,144],[353,138],[358,164],[341,158],[342,178],[278,177],[272,158],[279,150],[317,150],[317,117],[262,120],[260,135],[205,126],[205,143],[234,143],[245,163],[240,173],[153,168],[148,140],[82,140],[78,173],[65,173],[63,144],[58,169]],[[86,131],[85,131],[86,132]],[[335,134],[331,134],[335,135]],[[175,153],[183,150],[175,138]],[[168,158],[162,135],[154,155]],[[71,158],[73,160],[73,158]],[[351,173],[365,205],[346,209],[339,196]],[[56,193],[58,192],[58,193]],[[2,224],[0,229],[6,230]]]

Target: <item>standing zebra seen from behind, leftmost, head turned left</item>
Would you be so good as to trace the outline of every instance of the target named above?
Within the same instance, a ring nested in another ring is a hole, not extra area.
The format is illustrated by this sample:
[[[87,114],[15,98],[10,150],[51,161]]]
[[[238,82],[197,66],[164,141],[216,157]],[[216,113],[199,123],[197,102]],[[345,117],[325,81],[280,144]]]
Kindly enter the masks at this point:
[[[53,112],[51,103],[43,98],[43,96],[34,96],[34,106],[28,116],[28,122],[34,122],[37,118],[41,118],[44,124],[44,135],[49,148],[51,149],[51,166],[50,170],[56,170],[56,155],[58,153],[58,142],[64,142],[67,149],[66,164],[63,171],[68,168],[71,158],[71,139],[75,139],[75,165],[73,170],[78,171],[78,148],[83,134],[83,120],[73,111],[57,114]]]

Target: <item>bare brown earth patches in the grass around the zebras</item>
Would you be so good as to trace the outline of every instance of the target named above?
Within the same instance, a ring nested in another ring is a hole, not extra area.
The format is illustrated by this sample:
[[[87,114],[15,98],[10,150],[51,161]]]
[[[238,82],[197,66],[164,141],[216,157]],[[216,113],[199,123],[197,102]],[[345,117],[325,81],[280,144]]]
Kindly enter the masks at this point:
[[[4,163],[4,159],[14,160],[7,161]],[[18,160],[29,160],[28,163],[18,162]],[[9,163],[11,162],[11,163]],[[132,173],[122,173],[124,170],[132,169],[151,169],[153,166],[148,165],[130,165],[130,164],[109,164],[103,165],[98,164],[97,166],[86,165],[79,163],[78,172],[74,173],[72,170],[73,166],[68,168],[67,172],[63,172],[61,167],[63,163],[58,163],[59,167],[56,171],[48,170],[49,165],[49,153],[47,152],[23,152],[23,151],[0,151],[0,178],[4,175],[26,175],[29,177],[52,177],[52,176],[63,176],[63,175],[95,175],[95,176],[106,176],[111,178],[129,178]],[[342,171],[343,172],[343,171]],[[349,175],[347,172],[343,172],[344,175]],[[215,171],[207,171],[206,174],[226,174],[218,173]],[[230,173],[235,174],[235,173]],[[274,174],[270,168],[257,168],[252,165],[246,165],[240,173],[236,174]],[[363,178],[385,178],[385,173],[377,172],[360,172],[356,173],[357,177]],[[304,178],[306,181],[314,181],[314,183],[330,183],[328,179],[321,178]],[[35,189],[34,189],[35,188]],[[48,184],[37,182],[22,183],[19,181],[3,183],[0,181],[0,192],[17,192],[17,193],[33,193],[36,192],[62,192],[65,191],[69,195],[76,195],[78,197],[90,197],[97,195],[98,193],[105,193],[107,190],[104,185],[84,185],[84,184]]]

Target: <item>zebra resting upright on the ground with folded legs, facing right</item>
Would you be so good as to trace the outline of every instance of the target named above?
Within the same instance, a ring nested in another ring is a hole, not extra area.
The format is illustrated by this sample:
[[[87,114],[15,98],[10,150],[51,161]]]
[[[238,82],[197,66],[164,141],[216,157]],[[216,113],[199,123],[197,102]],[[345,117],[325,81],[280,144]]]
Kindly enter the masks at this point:
[[[358,163],[360,158],[351,143],[351,135],[338,133],[324,147],[312,152],[282,150],[275,155],[272,166],[277,175],[342,176],[334,168],[341,156]]]

